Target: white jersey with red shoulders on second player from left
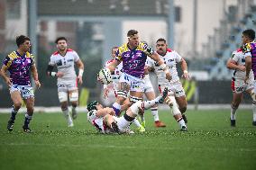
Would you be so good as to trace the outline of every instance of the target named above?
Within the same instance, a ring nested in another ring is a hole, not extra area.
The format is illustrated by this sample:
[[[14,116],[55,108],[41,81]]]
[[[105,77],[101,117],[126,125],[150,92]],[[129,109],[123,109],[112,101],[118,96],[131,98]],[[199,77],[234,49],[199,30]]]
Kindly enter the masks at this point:
[[[50,56],[49,65],[56,66],[59,72],[64,76],[58,77],[59,81],[76,81],[77,75],[75,71],[75,62],[79,60],[78,53],[73,49],[67,49],[65,56],[61,56],[59,51],[54,52]]]

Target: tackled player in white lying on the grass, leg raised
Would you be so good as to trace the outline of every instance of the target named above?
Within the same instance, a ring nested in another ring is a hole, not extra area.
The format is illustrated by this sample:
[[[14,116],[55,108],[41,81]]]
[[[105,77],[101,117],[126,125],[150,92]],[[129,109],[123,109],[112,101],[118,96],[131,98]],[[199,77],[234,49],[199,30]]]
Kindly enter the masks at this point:
[[[93,101],[87,105],[87,120],[101,133],[125,133],[128,126],[138,115],[138,112],[143,112],[144,109],[149,109],[157,103],[163,103],[167,94],[168,89],[165,89],[163,94],[154,100],[133,103],[119,118],[115,116],[113,108],[104,108],[100,103]]]

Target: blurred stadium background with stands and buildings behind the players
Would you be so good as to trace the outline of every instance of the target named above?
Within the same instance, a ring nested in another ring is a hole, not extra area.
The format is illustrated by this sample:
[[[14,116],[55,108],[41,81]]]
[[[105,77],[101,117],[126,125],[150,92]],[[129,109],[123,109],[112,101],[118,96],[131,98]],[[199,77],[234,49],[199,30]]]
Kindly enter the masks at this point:
[[[67,37],[85,63],[80,104],[86,106],[87,100],[101,100],[96,73],[110,58],[111,47],[135,29],[151,47],[165,38],[186,58],[193,76],[183,82],[188,103],[228,104],[233,71],[226,60],[240,46],[242,31],[255,26],[256,0],[0,0],[0,56],[3,60],[16,49],[17,35],[29,35],[42,83],[35,105],[58,106],[56,80],[45,70],[56,50],[54,40]],[[248,96],[244,103],[251,103]],[[0,108],[11,105],[1,78]]]

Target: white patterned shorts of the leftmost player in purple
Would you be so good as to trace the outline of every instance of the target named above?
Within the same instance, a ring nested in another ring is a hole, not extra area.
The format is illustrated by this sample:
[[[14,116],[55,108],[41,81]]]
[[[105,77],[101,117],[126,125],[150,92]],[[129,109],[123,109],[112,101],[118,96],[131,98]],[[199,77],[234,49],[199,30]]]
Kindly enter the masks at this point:
[[[31,85],[11,85],[10,94],[12,94],[14,91],[19,91],[23,99],[34,97]]]

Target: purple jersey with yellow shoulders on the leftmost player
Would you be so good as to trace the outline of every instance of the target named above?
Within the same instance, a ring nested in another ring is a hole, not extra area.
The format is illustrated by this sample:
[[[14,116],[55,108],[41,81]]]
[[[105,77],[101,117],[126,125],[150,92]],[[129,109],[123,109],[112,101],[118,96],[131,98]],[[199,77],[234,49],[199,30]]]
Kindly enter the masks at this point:
[[[31,85],[30,71],[34,65],[34,57],[30,52],[21,56],[17,51],[13,51],[5,57],[3,64],[8,67],[13,85]]]

